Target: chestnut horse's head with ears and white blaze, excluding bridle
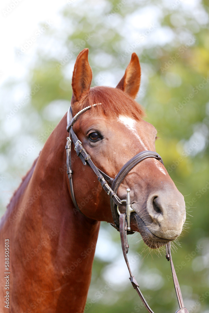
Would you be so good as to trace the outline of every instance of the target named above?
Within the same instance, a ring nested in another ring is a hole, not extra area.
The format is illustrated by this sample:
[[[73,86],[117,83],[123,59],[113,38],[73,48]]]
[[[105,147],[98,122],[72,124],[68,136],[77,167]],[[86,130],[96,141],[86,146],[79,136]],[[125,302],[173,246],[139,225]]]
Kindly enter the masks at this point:
[[[73,71],[72,115],[87,106],[73,130],[94,164],[116,177],[128,160],[142,151],[155,151],[157,131],[143,120],[144,111],[134,100],[140,86],[141,69],[135,53],[116,88],[90,88],[92,71],[88,49],[78,55]],[[93,104],[96,104],[93,106]],[[109,198],[92,169],[84,166],[73,151],[74,194],[81,212],[88,218],[112,223]],[[185,201],[164,165],[146,158],[124,177],[117,195],[126,198],[130,188],[131,229],[142,235],[149,247],[158,248],[176,239],[185,222]],[[84,204],[83,204],[84,203]],[[124,212],[125,206],[120,207]]]

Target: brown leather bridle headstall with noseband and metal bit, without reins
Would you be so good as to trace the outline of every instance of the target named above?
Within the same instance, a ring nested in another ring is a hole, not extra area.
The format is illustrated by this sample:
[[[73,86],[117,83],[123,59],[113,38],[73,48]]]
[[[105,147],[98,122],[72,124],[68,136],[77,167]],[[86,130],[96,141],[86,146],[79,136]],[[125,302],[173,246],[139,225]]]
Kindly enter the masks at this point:
[[[93,106],[101,105],[101,103],[94,104]],[[123,179],[126,177],[126,175],[130,172],[130,170],[135,167],[139,162],[143,161],[146,158],[155,158],[159,160],[163,164],[163,160],[161,156],[157,152],[154,151],[142,151],[139,152],[137,155],[133,156],[118,172],[115,179],[109,177],[107,174],[102,172],[100,169],[98,169],[95,164],[91,160],[91,156],[87,154],[86,150],[82,146],[81,141],[76,136],[75,132],[73,131],[73,125],[77,121],[78,117],[86,112],[87,110],[91,109],[91,105],[87,106],[86,108],[79,111],[74,117],[72,117],[72,109],[71,107],[68,110],[67,113],[67,131],[70,133],[70,137],[67,138],[67,144],[66,144],[66,150],[67,150],[67,174],[70,180],[70,190],[71,190],[71,198],[72,201],[76,207],[77,210],[79,210],[78,205],[76,203],[76,199],[74,196],[73,191],[73,181],[72,181],[72,170],[71,170],[71,143],[73,141],[75,145],[75,151],[77,156],[80,157],[81,161],[84,165],[86,163],[92,168],[92,170],[97,175],[98,181],[101,183],[103,189],[107,192],[107,194],[110,196],[110,206],[111,206],[111,212],[112,212],[112,218],[114,220],[115,224],[111,224],[113,227],[115,227],[117,230],[119,230],[119,213],[118,213],[118,207],[121,206],[122,201],[125,202],[126,200],[120,200],[117,196],[118,187],[120,186]],[[108,185],[108,183],[111,185],[111,187]],[[127,192],[128,194],[128,192]],[[128,205],[128,203],[127,203]],[[80,211],[80,210],[79,210]],[[133,208],[131,208],[131,203],[129,203],[127,210],[126,210],[127,218],[128,218],[128,233],[133,233],[130,228],[130,214],[131,212],[134,212]]]

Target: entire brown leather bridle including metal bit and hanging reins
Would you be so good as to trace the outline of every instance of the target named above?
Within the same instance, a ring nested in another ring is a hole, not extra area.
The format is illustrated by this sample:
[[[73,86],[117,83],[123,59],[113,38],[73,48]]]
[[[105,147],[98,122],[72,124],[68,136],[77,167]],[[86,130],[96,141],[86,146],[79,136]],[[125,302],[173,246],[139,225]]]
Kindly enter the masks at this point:
[[[133,156],[118,172],[116,177],[113,179],[109,177],[107,174],[102,172],[100,169],[98,169],[95,164],[91,160],[91,156],[86,152],[84,147],[82,146],[81,141],[78,139],[76,136],[75,132],[73,131],[73,125],[78,119],[78,117],[86,112],[87,110],[90,110],[92,107],[95,107],[97,105],[101,105],[102,103],[98,104],[93,104],[92,106],[89,105],[79,111],[74,117],[72,115],[72,109],[71,106],[69,107],[69,110],[67,112],[67,131],[69,132],[69,137],[67,137],[67,144],[65,146],[66,153],[67,153],[67,174],[70,182],[70,192],[71,192],[71,198],[73,201],[73,204],[75,205],[75,208],[80,211],[75,195],[74,195],[74,190],[73,190],[73,180],[72,180],[72,163],[71,163],[71,144],[73,142],[75,146],[75,151],[77,156],[80,157],[81,161],[83,162],[84,165],[88,164],[92,170],[95,172],[97,175],[98,181],[101,183],[103,189],[107,193],[107,195],[110,197],[110,206],[111,206],[111,212],[112,212],[112,218],[114,220],[114,224],[111,223],[111,225],[116,228],[120,232],[120,238],[121,238],[121,245],[122,245],[122,250],[123,250],[123,256],[125,259],[125,262],[128,267],[128,271],[130,274],[130,281],[133,285],[133,288],[136,289],[139,297],[141,298],[142,302],[144,303],[146,309],[149,311],[149,313],[154,313],[151,308],[149,307],[148,303],[146,302],[143,294],[141,293],[139,289],[139,285],[134,277],[134,275],[131,272],[129,263],[128,263],[128,258],[127,258],[127,253],[128,253],[128,239],[127,239],[127,234],[132,234],[134,233],[131,230],[130,227],[130,216],[132,212],[135,212],[134,209],[131,207],[131,201],[130,201],[130,189],[127,189],[127,197],[126,199],[121,200],[117,196],[117,191],[118,187],[120,186],[121,182],[123,181],[124,177],[131,171],[133,167],[135,167],[138,163],[141,161],[147,159],[147,158],[155,158],[159,160],[163,164],[163,160],[161,156],[159,156],[158,153],[154,151],[142,151],[139,152],[137,155]],[[110,186],[109,186],[110,185]],[[122,205],[123,202],[126,202],[126,213],[120,213],[119,207]],[[171,271],[172,271],[172,276],[173,276],[173,281],[174,281],[174,287],[175,287],[175,292],[177,296],[177,300],[179,303],[180,309],[176,311],[176,313],[180,312],[181,313],[189,313],[188,310],[184,307],[184,302],[182,299],[181,291],[180,291],[180,286],[178,283],[178,279],[175,273],[172,257],[171,257],[171,251],[170,251],[170,242],[166,244],[166,259],[169,261],[170,260],[170,265],[171,265]]]

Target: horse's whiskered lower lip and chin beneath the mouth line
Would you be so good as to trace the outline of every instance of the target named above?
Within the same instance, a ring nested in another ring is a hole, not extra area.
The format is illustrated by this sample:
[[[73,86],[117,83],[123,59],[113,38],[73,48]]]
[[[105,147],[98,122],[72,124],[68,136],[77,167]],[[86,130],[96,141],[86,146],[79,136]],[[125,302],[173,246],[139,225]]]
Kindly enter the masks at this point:
[[[137,222],[137,223],[134,223],[134,226],[135,226],[134,231],[138,231],[141,234],[142,239],[144,240],[144,243],[149,248],[158,249],[164,246],[165,244],[167,244],[169,241],[172,241],[170,239],[160,238],[156,236],[154,233],[152,233],[148,229],[148,227],[146,226],[146,224],[144,223],[144,221],[140,218],[138,214],[134,213],[133,215],[134,215],[135,221]]]

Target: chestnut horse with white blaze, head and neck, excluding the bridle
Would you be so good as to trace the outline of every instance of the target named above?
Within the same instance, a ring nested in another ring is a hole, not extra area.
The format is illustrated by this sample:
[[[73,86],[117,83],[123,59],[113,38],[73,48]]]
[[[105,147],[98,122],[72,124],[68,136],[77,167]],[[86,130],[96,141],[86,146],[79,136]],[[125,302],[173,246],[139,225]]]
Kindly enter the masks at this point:
[[[95,165],[110,177],[137,153],[155,151],[157,131],[142,119],[143,109],[134,100],[140,74],[133,53],[116,88],[90,88],[88,49],[76,59],[72,115],[92,108],[79,116],[73,130]],[[72,149],[74,194],[81,212],[75,209],[66,173],[66,119],[51,133],[1,219],[1,312],[8,307],[14,313],[84,311],[100,221],[113,223],[113,218],[107,193]],[[120,199],[126,198],[127,188],[135,210],[131,229],[141,233],[145,244],[158,248],[180,235],[185,202],[163,164],[145,159],[123,179]],[[5,251],[9,261],[4,263]]]

